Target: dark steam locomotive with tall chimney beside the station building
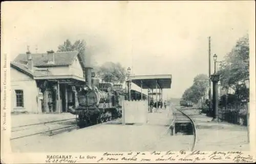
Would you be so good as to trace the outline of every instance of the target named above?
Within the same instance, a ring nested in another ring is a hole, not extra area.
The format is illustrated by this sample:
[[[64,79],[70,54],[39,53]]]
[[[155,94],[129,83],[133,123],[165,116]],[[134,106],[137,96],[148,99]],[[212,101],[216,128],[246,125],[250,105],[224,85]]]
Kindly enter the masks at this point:
[[[77,125],[84,127],[122,117],[122,100],[125,93],[121,85],[99,83],[94,77],[93,68],[86,67],[86,85],[79,91],[72,88],[75,105],[68,112],[78,115]]]

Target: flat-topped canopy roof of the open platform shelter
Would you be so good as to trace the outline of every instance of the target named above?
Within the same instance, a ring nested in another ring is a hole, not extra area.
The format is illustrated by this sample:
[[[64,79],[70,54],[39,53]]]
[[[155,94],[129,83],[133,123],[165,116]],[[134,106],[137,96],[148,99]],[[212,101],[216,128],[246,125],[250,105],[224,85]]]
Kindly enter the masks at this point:
[[[158,88],[162,89],[170,89],[172,84],[172,75],[165,74],[165,75],[141,75],[141,76],[131,76],[132,83],[136,84],[137,86],[143,89],[147,88],[156,88],[158,84]]]

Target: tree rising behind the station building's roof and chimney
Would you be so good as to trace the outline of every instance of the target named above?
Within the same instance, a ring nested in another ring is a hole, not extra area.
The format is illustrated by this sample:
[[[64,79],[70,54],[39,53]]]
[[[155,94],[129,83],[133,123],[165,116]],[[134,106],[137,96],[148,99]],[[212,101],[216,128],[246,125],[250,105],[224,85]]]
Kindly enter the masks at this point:
[[[67,39],[63,44],[58,46],[58,52],[63,51],[78,51],[82,58],[82,61],[85,63],[86,57],[86,42],[84,40],[76,40],[74,44],[71,43],[69,39]]]

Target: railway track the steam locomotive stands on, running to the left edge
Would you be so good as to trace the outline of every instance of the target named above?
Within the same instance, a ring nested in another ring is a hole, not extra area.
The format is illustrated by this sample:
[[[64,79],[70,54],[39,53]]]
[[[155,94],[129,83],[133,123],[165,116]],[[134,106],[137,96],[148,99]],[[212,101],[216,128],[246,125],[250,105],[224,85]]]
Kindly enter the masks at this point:
[[[114,120],[117,120],[117,119],[113,119],[111,121],[114,121]],[[63,124],[61,125],[61,123]],[[65,125],[65,123],[68,123],[68,124]],[[108,123],[108,122],[104,122],[104,123]],[[104,123],[100,123],[100,124],[104,124]],[[95,124],[95,125],[99,125],[99,124]],[[90,125],[90,126],[95,126],[95,125]],[[62,126],[62,127],[59,127],[59,126]],[[86,127],[89,127],[89,126],[86,126]],[[86,128],[86,127],[83,127],[83,128]],[[10,140],[26,138],[28,136],[38,135],[38,134],[48,134],[49,136],[51,136],[57,133],[61,133],[63,131],[71,131],[74,129],[81,129],[76,124],[76,118],[16,126],[16,127],[13,127],[11,130],[11,134],[14,135],[14,137],[12,137]]]

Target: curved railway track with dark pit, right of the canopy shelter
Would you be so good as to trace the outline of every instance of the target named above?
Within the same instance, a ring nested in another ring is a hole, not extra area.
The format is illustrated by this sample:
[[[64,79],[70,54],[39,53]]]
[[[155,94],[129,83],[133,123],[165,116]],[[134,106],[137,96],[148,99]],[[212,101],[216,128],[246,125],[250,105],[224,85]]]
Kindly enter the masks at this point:
[[[190,113],[189,108],[181,107],[180,109],[175,107],[173,110],[174,120],[170,125],[170,129],[172,130],[172,134],[175,135],[179,132],[183,134],[194,135],[193,146],[191,147],[191,151],[194,151],[197,142],[197,130],[194,120],[191,118],[193,116]]]

